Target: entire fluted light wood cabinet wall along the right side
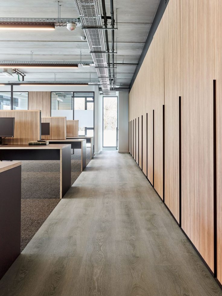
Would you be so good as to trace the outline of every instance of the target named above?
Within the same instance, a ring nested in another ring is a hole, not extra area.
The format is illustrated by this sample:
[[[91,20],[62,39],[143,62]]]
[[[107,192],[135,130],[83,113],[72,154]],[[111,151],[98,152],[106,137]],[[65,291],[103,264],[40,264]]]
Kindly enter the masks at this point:
[[[221,19],[220,0],[169,1],[130,91],[129,120],[141,120],[143,115],[143,129],[140,126],[139,132],[143,134],[143,172],[222,283]]]

